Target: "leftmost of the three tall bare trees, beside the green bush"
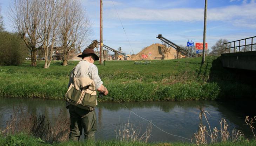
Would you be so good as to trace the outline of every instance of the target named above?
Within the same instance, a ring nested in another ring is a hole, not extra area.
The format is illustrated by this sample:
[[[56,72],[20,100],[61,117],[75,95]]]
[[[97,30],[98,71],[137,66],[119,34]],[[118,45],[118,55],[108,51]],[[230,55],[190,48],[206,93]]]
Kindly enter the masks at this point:
[[[41,0],[12,0],[9,8],[13,27],[31,51],[31,66],[34,67],[40,41],[37,28],[42,18],[41,8]]]

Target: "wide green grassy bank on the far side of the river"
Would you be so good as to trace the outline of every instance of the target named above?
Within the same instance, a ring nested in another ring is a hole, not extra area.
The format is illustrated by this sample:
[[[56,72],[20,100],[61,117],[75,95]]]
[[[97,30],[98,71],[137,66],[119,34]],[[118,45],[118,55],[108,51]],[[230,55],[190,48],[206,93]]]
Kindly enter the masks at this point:
[[[241,79],[241,72],[222,67],[217,57],[152,61],[107,61],[97,65],[109,96],[119,101],[200,100],[255,97],[255,85]],[[63,99],[69,73],[78,61],[61,66],[54,61],[49,69],[20,66],[0,67],[0,93],[7,97]],[[238,90],[239,89],[239,90]],[[102,98],[101,101],[111,100]]]

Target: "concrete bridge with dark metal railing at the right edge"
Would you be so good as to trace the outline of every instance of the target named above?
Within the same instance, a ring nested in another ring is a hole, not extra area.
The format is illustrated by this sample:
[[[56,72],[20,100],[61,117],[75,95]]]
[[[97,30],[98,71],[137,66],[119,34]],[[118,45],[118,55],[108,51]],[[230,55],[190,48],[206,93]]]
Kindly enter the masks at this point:
[[[223,67],[256,71],[256,43],[253,40],[255,37],[223,43],[225,53],[220,57]]]

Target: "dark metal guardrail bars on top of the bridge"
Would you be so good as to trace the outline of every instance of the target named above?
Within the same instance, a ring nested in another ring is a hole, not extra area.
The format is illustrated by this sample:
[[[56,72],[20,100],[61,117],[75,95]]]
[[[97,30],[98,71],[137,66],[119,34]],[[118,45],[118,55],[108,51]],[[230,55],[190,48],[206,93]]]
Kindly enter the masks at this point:
[[[255,38],[256,36],[253,36],[253,37],[248,37],[248,38],[245,38],[245,39],[241,39],[241,40],[236,40],[236,41],[232,41],[232,42],[227,42],[227,43],[223,43],[225,44],[225,53],[227,53],[227,50],[228,53],[235,53],[235,52],[240,52],[240,51],[252,51],[253,50],[253,45],[256,45],[256,43],[253,43],[253,39]],[[250,39],[251,43],[250,44],[246,44],[247,41]],[[244,41],[244,44],[241,45],[241,41]],[[238,43],[238,46],[236,46],[236,44]],[[234,44],[234,45],[233,45]],[[247,46],[251,46],[251,49],[250,50],[247,50]],[[241,50],[241,47],[244,47],[243,50]],[[231,52],[231,49],[233,48],[233,52]],[[237,50],[238,48],[238,50]]]

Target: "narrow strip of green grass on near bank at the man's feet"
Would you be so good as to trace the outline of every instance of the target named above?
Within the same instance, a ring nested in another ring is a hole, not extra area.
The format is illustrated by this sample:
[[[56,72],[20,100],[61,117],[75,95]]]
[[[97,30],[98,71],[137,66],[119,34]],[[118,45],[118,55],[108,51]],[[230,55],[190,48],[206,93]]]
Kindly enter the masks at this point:
[[[196,146],[191,143],[184,142],[157,142],[157,143],[143,143],[143,142],[127,142],[127,141],[117,141],[117,140],[108,140],[108,141],[84,141],[84,142],[56,142],[53,144],[47,144],[39,138],[29,136],[28,134],[16,134],[8,135],[4,137],[0,135],[0,146],[16,145],[16,146]],[[238,142],[220,142],[216,144],[209,144],[207,146],[255,146],[256,141],[251,140],[242,140]]]

